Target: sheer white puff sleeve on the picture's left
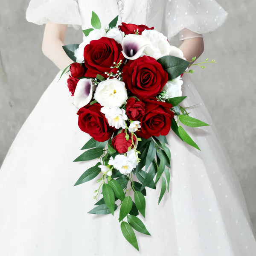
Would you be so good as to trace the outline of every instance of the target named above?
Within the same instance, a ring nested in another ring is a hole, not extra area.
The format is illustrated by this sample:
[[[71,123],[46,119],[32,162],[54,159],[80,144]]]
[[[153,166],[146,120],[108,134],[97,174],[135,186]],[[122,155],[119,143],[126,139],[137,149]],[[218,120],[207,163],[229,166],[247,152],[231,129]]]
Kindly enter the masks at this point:
[[[47,19],[54,23],[68,24],[75,29],[81,26],[81,16],[76,0],[31,0],[26,19],[38,25]]]

